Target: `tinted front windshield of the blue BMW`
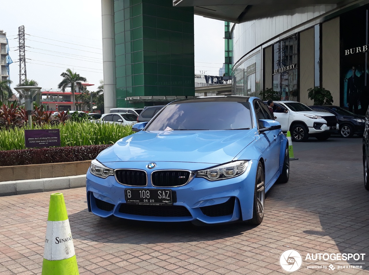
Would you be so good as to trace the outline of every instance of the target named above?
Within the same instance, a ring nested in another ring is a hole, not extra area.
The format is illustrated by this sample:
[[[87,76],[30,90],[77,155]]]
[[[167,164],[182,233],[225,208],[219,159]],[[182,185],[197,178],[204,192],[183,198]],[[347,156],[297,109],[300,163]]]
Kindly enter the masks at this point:
[[[251,125],[248,102],[183,102],[166,106],[146,131],[237,130]]]

